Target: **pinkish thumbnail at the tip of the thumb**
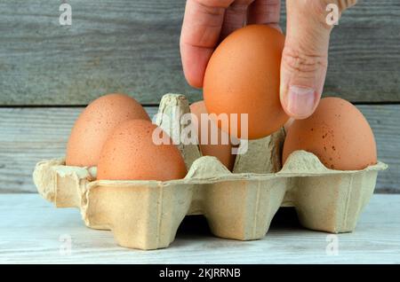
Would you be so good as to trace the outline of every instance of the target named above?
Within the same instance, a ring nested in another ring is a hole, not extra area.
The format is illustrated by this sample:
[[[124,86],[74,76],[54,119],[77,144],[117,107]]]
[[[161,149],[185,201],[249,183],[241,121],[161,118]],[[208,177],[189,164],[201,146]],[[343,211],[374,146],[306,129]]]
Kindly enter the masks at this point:
[[[295,118],[306,118],[313,113],[316,103],[316,91],[292,85],[287,94],[287,111]]]

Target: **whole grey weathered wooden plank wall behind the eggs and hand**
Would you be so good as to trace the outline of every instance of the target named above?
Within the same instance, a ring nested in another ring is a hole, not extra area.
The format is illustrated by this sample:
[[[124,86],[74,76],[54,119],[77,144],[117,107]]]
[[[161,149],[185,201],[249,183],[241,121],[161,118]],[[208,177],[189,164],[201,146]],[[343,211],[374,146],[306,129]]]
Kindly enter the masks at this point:
[[[185,82],[179,37],[185,0],[0,0],[0,192],[34,192],[36,161],[63,155],[77,114],[122,91],[155,113]],[[283,5],[284,11],[284,5]],[[285,17],[283,12],[282,22]],[[332,32],[325,96],[356,102],[389,164],[378,192],[400,192],[400,1],[359,0]]]

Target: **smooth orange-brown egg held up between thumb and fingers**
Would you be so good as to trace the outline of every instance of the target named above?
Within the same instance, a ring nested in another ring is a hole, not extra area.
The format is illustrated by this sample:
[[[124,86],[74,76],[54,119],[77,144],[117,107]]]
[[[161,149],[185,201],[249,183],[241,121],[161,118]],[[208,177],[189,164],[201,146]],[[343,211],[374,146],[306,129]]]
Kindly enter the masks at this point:
[[[244,138],[240,114],[248,114],[249,139],[266,137],[288,120],[279,100],[283,49],[282,33],[250,25],[228,35],[213,52],[204,74],[204,102],[210,114],[239,114],[239,122],[229,123],[229,134]]]

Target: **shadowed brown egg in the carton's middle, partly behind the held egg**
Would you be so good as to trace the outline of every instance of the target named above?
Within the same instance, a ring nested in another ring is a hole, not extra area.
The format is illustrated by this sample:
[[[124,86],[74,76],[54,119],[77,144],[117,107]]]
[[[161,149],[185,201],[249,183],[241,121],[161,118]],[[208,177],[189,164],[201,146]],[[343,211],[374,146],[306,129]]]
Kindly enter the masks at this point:
[[[204,101],[198,101],[196,103],[193,103],[190,105],[190,112],[192,114],[196,115],[197,121],[198,121],[198,129],[197,129],[197,137],[199,138],[199,143],[200,143],[200,150],[202,151],[202,154],[204,156],[214,156],[220,162],[227,167],[229,170],[232,170],[235,164],[235,159],[236,155],[232,154],[232,145],[230,143],[228,133],[221,131],[217,125],[209,121],[208,126],[206,124],[202,124],[201,122],[201,114],[207,114],[207,109],[205,108]],[[213,129],[212,129],[213,127]],[[206,141],[207,144],[201,144],[203,143],[201,141],[201,132],[202,130],[208,130],[208,139],[204,140]],[[217,145],[211,145],[211,134],[212,132],[218,132],[218,144]],[[225,136],[229,144],[227,145],[222,145],[222,136]]]

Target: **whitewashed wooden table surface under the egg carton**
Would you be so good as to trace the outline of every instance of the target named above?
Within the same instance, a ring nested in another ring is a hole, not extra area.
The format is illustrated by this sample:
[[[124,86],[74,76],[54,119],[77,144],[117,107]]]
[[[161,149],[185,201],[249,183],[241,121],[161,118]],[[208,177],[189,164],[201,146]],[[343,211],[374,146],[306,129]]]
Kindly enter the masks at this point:
[[[68,238],[70,254],[60,241]],[[180,232],[167,249],[139,251],[86,228],[76,209],[53,208],[37,194],[0,194],[2,263],[400,263],[400,195],[374,195],[356,231],[338,235],[337,255],[327,255],[326,239],[279,224],[257,241]]]

